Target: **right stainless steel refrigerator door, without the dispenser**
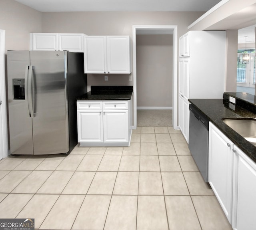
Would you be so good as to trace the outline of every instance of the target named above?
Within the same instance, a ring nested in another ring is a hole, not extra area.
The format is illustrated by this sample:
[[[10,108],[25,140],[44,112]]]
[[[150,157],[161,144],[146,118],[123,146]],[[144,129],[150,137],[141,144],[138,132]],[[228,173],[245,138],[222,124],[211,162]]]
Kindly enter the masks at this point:
[[[68,153],[66,51],[30,51],[34,155]]]

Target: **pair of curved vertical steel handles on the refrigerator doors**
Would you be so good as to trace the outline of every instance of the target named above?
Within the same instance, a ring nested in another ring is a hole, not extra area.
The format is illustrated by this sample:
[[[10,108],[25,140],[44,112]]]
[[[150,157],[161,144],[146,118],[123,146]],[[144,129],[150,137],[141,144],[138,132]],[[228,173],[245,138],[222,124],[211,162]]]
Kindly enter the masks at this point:
[[[25,97],[28,99],[28,112],[30,117],[34,117],[33,103],[32,103],[32,65],[26,65],[25,73],[25,85],[27,89],[25,90]]]

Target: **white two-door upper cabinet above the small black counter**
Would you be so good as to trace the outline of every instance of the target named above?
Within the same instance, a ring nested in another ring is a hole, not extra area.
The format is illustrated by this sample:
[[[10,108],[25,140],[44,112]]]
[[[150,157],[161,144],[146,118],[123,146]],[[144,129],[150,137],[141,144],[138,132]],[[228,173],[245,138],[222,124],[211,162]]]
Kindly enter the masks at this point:
[[[85,73],[131,73],[129,36],[86,36]]]

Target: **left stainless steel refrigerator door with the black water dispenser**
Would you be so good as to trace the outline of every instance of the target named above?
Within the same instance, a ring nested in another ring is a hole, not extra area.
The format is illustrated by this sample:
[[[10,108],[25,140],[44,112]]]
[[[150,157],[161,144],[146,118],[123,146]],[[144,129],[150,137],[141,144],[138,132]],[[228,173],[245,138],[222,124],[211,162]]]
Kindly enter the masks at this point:
[[[28,112],[28,98],[25,96],[27,85],[18,83],[25,82],[27,77],[26,65],[30,65],[29,51],[8,51],[7,65],[10,153],[32,155],[32,119]]]

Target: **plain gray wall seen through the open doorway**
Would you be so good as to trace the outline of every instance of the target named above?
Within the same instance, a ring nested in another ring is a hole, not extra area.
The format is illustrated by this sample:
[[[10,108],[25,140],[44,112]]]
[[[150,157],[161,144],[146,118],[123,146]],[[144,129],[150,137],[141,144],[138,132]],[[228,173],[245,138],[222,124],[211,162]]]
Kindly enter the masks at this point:
[[[172,107],[172,35],[137,35],[137,106]]]

